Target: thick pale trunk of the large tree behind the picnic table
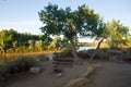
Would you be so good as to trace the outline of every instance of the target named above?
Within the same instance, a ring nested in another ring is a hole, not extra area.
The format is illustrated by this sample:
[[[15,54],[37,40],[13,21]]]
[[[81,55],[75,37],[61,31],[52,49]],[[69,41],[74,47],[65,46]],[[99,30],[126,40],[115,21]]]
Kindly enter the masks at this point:
[[[72,52],[72,55],[74,57],[74,62],[78,64],[80,64],[80,59],[79,59],[79,57],[78,57],[78,54],[76,54],[76,49],[75,49],[75,46],[74,46],[74,41],[72,40],[72,39],[70,39],[69,38],[69,40],[70,40],[70,42],[71,42],[71,45],[72,45],[72,48],[71,48],[71,52]]]

